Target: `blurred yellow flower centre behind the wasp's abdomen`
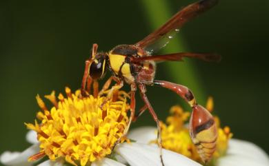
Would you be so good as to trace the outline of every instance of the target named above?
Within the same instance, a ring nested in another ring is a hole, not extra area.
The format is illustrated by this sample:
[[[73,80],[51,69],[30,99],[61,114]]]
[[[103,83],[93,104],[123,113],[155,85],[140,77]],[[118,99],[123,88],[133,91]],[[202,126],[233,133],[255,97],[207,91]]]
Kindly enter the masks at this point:
[[[210,112],[213,110],[212,97],[208,99],[207,109],[210,110]],[[161,122],[162,147],[173,152],[183,154],[192,160],[196,160],[197,162],[202,163],[202,160],[197,153],[197,149],[190,138],[187,125],[189,116],[190,113],[184,112],[179,105],[171,107],[170,116],[166,118],[166,123]],[[220,156],[226,154],[228,141],[232,137],[230,127],[226,126],[221,128],[220,121],[217,116],[215,116],[215,121],[217,123],[219,136],[217,138],[217,149],[213,154],[213,161],[214,158],[219,158]],[[157,143],[157,141],[152,142]]]

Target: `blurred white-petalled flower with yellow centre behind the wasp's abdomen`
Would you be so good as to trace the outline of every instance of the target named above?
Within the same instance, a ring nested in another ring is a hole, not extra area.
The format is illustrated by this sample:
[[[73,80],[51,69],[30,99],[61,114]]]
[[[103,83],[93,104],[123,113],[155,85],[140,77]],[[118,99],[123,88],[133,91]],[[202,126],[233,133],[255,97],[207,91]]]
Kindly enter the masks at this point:
[[[207,110],[212,112],[213,101],[208,99]],[[183,112],[179,106],[171,107],[166,123],[161,123],[162,147],[173,152],[183,154],[192,160],[202,163],[195,145],[192,143],[186,121],[189,112]],[[208,165],[230,166],[230,165],[269,165],[268,155],[253,143],[231,139],[232,133],[229,127],[220,127],[220,121],[215,116],[217,123],[218,138],[216,152]],[[128,138],[139,143],[157,143],[156,127],[140,127],[133,129]]]

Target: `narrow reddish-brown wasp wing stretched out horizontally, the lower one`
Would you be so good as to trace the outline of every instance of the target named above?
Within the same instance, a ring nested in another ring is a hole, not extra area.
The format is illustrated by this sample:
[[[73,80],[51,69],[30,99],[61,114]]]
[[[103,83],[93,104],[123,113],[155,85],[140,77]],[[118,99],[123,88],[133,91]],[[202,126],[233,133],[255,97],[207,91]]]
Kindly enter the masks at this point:
[[[141,61],[183,61],[184,57],[201,59],[208,62],[218,62],[221,60],[221,56],[219,56],[219,54],[180,52],[175,54],[152,55],[137,58],[134,57],[131,59],[131,62],[139,63]]]

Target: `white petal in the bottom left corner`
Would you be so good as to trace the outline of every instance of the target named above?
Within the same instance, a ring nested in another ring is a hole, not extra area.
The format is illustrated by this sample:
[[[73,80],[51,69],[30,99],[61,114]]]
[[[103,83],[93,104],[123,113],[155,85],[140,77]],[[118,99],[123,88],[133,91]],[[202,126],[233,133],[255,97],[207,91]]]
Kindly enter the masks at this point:
[[[3,165],[32,165],[28,162],[28,157],[39,152],[39,145],[32,145],[23,152],[3,152],[0,162]]]

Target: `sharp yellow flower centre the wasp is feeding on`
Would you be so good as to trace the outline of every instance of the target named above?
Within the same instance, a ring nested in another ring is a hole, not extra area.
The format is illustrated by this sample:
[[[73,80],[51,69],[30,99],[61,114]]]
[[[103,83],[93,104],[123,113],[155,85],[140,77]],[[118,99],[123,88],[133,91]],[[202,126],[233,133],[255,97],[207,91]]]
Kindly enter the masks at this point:
[[[128,124],[129,105],[126,93],[118,93],[117,100],[106,96],[83,97],[79,90],[72,94],[66,87],[66,97],[55,92],[45,98],[52,103],[48,110],[37,95],[42,111],[37,113],[40,123],[26,123],[37,132],[40,152],[29,160],[48,156],[50,160],[65,158],[72,165],[87,165],[112,153],[115,143],[123,136]]]

